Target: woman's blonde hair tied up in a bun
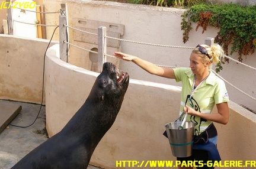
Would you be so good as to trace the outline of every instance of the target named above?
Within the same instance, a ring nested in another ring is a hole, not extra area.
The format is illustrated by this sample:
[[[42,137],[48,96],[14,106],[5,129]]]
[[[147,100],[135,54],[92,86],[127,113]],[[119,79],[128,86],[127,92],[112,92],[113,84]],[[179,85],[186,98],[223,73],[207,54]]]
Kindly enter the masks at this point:
[[[201,61],[203,61],[203,63],[206,63],[207,61],[210,61],[211,64],[219,63],[220,60],[222,60],[224,51],[219,44],[213,44],[212,47],[210,47],[209,45],[206,45],[206,44],[202,44],[201,47],[206,48],[207,53],[210,58],[206,54],[202,54],[199,51],[199,48],[194,48],[192,53],[198,54],[201,57]]]

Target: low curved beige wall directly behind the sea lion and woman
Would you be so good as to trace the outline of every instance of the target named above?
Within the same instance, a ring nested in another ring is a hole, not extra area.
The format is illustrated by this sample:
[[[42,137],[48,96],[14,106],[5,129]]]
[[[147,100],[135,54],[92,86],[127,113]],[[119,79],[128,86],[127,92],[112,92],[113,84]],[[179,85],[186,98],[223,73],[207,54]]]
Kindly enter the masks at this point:
[[[46,54],[46,125],[50,136],[82,106],[98,76],[59,60],[58,50],[54,45]],[[180,93],[177,86],[130,79],[119,115],[95,149],[91,164],[117,168],[117,160],[175,160],[162,133],[165,124],[178,118]],[[216,124],[222,160],[255,160],[256,116],[233,102],[229,102],[229,112],[228,125]]]

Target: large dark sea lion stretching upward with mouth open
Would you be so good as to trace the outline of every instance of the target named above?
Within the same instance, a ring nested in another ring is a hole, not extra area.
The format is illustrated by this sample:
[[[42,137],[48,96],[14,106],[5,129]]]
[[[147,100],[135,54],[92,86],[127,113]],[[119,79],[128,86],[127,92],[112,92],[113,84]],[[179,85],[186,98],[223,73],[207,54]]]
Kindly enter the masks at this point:
[[[87,168],[98,142],[119,113],[128,85],[128,73],[104,63],[87,100],[68,124],[12,168]]]

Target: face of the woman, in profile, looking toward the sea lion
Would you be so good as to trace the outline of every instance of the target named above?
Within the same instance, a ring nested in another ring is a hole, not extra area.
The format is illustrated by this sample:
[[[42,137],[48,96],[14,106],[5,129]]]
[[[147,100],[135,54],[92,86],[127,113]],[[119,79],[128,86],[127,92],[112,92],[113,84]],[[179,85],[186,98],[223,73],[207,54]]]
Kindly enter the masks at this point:
[[[206,69],[208,71],[207,64],[203,63],[201,61],[201,57],[196,53],[190,54],[190,68],[191,68],[193,74],[201,74]]]

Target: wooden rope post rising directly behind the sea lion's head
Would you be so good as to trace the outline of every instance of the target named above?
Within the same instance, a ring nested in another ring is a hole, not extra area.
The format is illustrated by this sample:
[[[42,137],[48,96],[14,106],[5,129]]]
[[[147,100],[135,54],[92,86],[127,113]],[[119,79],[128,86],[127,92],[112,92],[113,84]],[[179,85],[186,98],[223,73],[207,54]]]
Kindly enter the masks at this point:
[[[106,27],[98,27],[98,68],[100,69],[100,72],[103,69],[103,63],[105,63],[105,53],[107,53],[106,34]]]

